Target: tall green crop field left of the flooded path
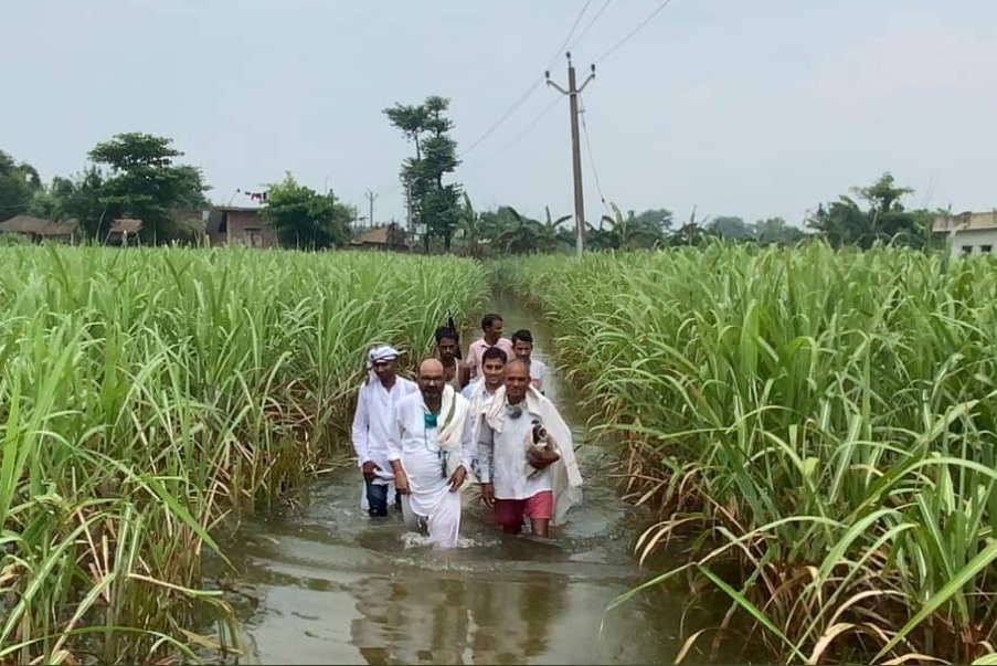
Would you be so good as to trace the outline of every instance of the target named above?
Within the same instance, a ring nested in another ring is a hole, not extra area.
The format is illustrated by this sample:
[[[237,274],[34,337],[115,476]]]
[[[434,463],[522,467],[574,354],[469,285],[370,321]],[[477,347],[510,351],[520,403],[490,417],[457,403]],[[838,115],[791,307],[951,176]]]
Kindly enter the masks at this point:
[[[486,284],[380,253],[0,249],[0,663],[192,657],[205,610],[231,619],[197,589],[212,529],[346,440],[369,345],[427,352]]]

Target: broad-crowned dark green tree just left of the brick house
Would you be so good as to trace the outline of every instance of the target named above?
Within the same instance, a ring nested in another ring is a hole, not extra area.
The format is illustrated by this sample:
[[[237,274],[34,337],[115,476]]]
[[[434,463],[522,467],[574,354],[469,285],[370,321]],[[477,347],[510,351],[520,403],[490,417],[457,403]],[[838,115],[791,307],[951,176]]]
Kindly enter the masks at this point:
[[[89,151],[98,165],[107,165],[102,200],[123,213],[142,220],[147,241],[170,241],[180,234],[171,211],[206,207],[209,189],[201,170],[174,165],[183,154],[172,148],[172,139],[141,133],[118,134]]]

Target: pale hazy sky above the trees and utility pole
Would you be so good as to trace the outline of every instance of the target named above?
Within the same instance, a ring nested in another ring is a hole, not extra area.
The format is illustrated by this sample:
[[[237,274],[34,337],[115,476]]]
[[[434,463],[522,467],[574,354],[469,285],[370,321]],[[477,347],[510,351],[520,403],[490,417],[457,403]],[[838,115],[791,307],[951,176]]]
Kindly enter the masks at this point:
[[[8,2],[0,149],[49,180],[83,169],[97,142],[145,131],[171,137],[215,202],[248,205],[237,189],[290,171],[361,214],[373,191],[375,220],[401,221],[412,146],[381,112],[441,95],[476,209],[566,215],[568,98],[543,72],[565,85],[579,20],[580,77],[596,65],[582,94],[590,221],[604,197],[679,220],[696,207],[698,220],[800,224],[887,170],[916,190],[909,205],[997,207],[997,2],[672,0],[606,54],[659,6]]]

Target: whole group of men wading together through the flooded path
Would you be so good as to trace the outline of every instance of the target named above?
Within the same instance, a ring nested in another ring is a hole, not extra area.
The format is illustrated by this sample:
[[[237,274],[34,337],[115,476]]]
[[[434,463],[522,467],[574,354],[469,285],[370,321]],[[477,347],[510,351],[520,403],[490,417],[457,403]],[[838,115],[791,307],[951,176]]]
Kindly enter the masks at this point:
[[[457,543],[463,491],[475,485],[495,524],[547,537],[581,501],[582,477],[571,431],[544,397],[545,366],[531,358],[533,337],[502,337],[502,318],[481,320],[482,336],[460,357],[450,326],[436,330],[436,355],[416,381],[397,373],[399,352],[369,351],[352,440],[372,517],[401,506],[405,525],[425,528],[442,547]]]

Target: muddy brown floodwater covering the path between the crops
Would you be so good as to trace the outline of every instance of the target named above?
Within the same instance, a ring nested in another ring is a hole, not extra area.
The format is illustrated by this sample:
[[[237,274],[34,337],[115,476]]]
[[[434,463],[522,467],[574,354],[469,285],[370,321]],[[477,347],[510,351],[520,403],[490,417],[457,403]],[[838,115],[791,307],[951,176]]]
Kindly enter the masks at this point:
[[[509,303],[494,305],[507,332],[533,329],[543,359],[543,329]],[[554,374],[547,393],[583,441],[586,414],[571,388]],[[551,540],[497,533],[468,500],[462,547],[434,550],[406,535],[397,516],[374,521],[360,511],[354,469],[319,482],[305,509],[244,524],[227,549],[257,599],[243,663],[672,663],[682,636],[719,624],[722,607],[657,591],[604,613],[648,577],[632,554],[647,517],[617,498],[611,455],[597,445],[579,454],[584,504]],[[707,657],[693,651],[687,663]],[[729,649],[713,658],[745,656]]]

